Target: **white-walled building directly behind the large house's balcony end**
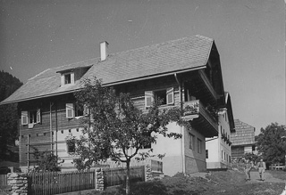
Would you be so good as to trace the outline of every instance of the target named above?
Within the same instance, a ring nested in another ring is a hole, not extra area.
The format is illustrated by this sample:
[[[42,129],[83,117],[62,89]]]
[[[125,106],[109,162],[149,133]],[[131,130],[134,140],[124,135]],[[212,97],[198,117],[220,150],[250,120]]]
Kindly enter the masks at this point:
[[[234,133],[234,120],[231,95],[225,93],[225,106],[218,112],[218,136],[206,138],[206,168],[231,167],[231,133]]]

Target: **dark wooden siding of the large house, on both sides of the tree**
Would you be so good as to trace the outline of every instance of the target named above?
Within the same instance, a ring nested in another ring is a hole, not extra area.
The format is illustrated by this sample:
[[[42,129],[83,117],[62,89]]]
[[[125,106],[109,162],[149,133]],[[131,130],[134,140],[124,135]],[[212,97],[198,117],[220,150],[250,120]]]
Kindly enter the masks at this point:
[[[184,77],[181,77],[184,79]],[[183,80],[181,80],[183,83]],[[176,81],[176,78],[172,76],[159,77],[149,80],[138,81],[130,84],[116,85],[114,86],[117,93],[130,93],[130,96],[137,108],[143,112],[147,112],[145,107],[145,91],[164,90],[173,87],[174,103],[172,105],[162,105],[163,109],[172,108],[173,106],[180,106],[181,97],[182,101],[184,95],[181,93],[183,89]],[[41,123],[35,124],[33,128],[28,126],[20,126],[20,164],[21,166],[28,165],[28,159],[32,160],[31,146],[35,146],[38,150],[53,150],[56,149],[55,144],[59,140],[56,140],[55,134],[51,137],[51,124],[50,124],[50,103],[52,102],[52,132],[67,132],[80,128],[80,119],[66,118],[66,103],[74,103],[75,99],[72,93],[55,96],[53,98],[43,98],[35,101],[21,102],[19,104],[20,110],[41,110]],[[21,119],[21,118],[20,118]],[[200,129],[198,129],[198,132]],[[63,133],[61,133],[63,134]],[[57,134],[59,135],[59,134]],[[61,135],[62,136],[62,135]],[[63,141],[63,136],[59,141]],[[63,143],[59,143],[58,147],[61,148],[61,155],[64,156],[66,150],[63,150]],[[58,148],[59,149],[59,148]],[[32,162],[32,161],[31,161]],[[31,165],[31,164],[30,164]]]

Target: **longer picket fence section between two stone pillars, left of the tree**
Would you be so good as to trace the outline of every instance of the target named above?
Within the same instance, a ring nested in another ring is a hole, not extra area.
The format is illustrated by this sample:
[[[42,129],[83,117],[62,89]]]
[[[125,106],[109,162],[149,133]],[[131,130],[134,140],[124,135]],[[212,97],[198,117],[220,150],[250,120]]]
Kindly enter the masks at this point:
[[[57,193],[95,189],[95,170],[29,174],[29,194]]]

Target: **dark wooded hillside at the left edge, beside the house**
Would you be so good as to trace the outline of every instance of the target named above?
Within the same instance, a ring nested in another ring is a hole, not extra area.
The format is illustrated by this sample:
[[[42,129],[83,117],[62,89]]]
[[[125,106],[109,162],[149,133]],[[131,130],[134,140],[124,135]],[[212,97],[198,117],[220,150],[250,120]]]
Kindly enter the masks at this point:
[[[21,81],[9,73],[0,71],[0,102],[11,95],[22,85]],[[13,155],[8,145],[14,145],[18,136],[17,104],[0,106],[0,157],[16,161],[18,155]],[[15,156],[15,157],[13,157]]]

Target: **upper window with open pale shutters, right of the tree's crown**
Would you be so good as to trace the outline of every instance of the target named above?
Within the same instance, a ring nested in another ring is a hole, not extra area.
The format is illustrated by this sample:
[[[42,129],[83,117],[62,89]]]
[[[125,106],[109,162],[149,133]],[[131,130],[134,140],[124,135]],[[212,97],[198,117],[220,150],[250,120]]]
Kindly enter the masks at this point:
[[[164,90],[158,91],[146,91],[145,92],[145,107],[150,107],[152,103],[156,102],[156,100],[160,99],[162,104],[173,104],[173,88],[167,88]]]

